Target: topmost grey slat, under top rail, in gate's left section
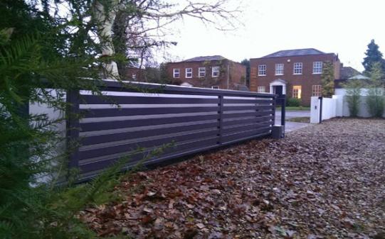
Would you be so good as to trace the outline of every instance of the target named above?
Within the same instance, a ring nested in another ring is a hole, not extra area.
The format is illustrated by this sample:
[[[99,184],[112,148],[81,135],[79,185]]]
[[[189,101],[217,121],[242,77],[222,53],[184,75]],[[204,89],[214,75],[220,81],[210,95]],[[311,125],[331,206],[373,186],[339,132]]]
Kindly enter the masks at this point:
[[[212,98],[82,95],[85,104],[218,104]],[[80,101],[81,102],[81,101]]]

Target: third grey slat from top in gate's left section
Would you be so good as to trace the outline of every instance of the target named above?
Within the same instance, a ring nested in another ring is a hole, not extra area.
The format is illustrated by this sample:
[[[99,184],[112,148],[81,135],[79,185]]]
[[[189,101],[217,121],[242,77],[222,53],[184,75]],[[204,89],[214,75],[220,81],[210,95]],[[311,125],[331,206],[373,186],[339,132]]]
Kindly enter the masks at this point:
[[[167,123],[182,123],[190,121],[208,121],[216,120],[219,118],[219,114],[212,114],[206,116],[181,116],[172,118],[144,118],[126,121],[105,121],[105,122],[92,122],[92,123],[80,123],[80,130],[82,132],[94,131],[94,130],[108,130],[115,128],[130,128],[139,126],[157,126]]]

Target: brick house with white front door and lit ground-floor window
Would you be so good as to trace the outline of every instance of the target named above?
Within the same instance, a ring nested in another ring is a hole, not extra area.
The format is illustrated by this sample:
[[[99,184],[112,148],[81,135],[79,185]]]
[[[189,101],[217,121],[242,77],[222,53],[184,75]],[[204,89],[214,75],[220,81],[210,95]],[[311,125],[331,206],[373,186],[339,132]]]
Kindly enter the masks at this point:
[[[311,96],[321,95],[323,62],[332,62],[334,78],[339,79],[338,55],[314,48],[280,50],[250,59],[250,91],[286,94],[310,106]]]

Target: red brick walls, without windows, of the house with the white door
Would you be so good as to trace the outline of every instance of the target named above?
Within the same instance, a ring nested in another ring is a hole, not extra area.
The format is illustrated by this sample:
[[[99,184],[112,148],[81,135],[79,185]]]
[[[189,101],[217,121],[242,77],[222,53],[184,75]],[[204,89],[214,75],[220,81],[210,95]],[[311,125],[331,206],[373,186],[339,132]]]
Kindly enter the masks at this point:
[[[333,63],[334,79],[339,79],[341,64],[334,53],[250,59],[250,91],[258,91],[258,87],[265,87],[265,91],[270,92],[270,84],[285,82],[286,95],[289,98],[293,97],[293,86],[296,86],[295,94],[297,89],[301,89],[302,105],[310,106],[310,97],[317,92],[317,88],[319,89],[317,86],[321,85],[321,74],[313,74],[313,62],[326,61]],[[302,74],[294,74],[295,62],[302,62]],[[283,74],[275,74],[276,64],[283,64]],[[259,65],[266,66],[264,76],[258,75]]]

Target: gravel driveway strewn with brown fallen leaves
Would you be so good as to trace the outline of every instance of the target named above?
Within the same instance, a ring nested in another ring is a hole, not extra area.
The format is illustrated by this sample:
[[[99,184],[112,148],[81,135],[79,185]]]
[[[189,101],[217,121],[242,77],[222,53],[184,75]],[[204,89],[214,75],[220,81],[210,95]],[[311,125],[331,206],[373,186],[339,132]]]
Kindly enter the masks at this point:
[[[385,121],[337,118],[125,180],[80,213],[132,238],[373,238],[385,230]]]

